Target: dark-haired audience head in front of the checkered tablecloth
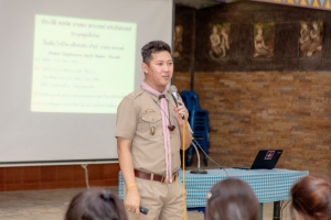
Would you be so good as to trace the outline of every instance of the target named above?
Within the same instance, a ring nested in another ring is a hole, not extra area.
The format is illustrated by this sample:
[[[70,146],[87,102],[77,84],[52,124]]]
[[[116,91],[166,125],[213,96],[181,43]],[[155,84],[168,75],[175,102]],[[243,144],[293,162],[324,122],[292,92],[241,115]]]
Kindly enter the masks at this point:
[[[259,204],[250,186],[226,178],[213,186],[206,207],[207,220],[258,220]]]

